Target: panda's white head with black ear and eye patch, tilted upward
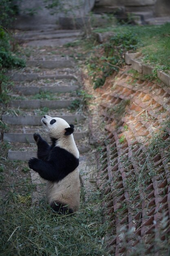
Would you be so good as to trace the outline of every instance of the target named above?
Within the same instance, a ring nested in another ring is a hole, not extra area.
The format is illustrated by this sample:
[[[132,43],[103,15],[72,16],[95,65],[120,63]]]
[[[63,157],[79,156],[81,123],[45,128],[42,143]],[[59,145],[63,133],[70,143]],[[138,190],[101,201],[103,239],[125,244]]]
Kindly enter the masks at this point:
[[[69,125],[60,117],[50,117],[45,115],[41,121],[51,138],[61,139],[71,135],[74,132],[73,124]]]

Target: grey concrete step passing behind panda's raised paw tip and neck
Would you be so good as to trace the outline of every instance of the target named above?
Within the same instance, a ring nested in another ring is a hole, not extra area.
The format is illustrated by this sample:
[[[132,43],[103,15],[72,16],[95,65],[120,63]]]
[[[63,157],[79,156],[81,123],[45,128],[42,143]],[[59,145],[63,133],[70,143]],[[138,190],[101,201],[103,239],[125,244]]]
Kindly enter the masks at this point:
[[[40,133],[41,134],[41,133]],[[84,139],[88,135],[87,132],[74,132],[74,139],[75,141],[79,139]],[[45,135],[42,137],[50,142],[50,138]],[[15,143],[34,143],[35,140],[33,138],[33,133],[4,133],[3,140],[8,142],[15,142]]]

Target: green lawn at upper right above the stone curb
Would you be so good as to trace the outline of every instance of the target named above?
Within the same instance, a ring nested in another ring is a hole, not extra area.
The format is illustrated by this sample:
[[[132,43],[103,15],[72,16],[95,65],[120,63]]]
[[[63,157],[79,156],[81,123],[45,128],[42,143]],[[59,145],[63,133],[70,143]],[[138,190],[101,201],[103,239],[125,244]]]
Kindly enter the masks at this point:
[[[97,32],[113,31],[115,33],[132,32],[139,43],[137,50],[144,55],[143,61],[152,65],[159,65],[163,70],[170,69],[170,23],[160,26],[117,26],[105,29],[95,29]]]

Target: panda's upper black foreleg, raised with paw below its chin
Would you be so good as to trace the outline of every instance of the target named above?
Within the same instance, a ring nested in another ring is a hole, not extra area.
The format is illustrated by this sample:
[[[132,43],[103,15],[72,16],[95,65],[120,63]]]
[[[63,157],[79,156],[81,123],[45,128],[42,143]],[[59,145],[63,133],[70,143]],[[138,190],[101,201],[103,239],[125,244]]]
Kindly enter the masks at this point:
[[[50,151],[49,144],[44,139],[42,139],[39,133],[34,133],[33,137],[38,146],[38,152],[37,152],[38,159],[46,160],[49,156],[49,151]]]

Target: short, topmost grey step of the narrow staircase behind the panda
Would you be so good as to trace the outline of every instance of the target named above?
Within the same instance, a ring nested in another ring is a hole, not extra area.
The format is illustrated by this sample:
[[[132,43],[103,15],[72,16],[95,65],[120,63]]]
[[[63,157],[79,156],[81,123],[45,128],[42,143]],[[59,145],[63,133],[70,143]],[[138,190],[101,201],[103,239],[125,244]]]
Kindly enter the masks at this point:
[[[73,59],[68,58],[55,58],[51,60],[31,59],[26,61],[27,67],[42,67],[42,68],[62,68],[62,67],[74,67],[75,63]]]

